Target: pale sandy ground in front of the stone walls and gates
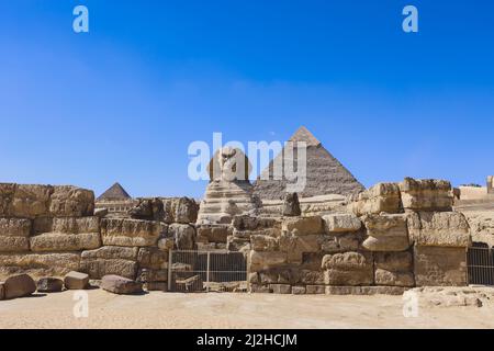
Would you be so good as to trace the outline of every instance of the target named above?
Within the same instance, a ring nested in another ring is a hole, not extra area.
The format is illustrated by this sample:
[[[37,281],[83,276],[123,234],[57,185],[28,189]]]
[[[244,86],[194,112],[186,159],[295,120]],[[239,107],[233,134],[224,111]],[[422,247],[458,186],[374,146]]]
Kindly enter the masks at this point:
[[[403,316],[402,296],[88,292],[75,318],[74,292],[0,302],[3,328],[494,328],[494,306],[420,308]]]

